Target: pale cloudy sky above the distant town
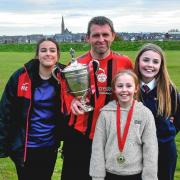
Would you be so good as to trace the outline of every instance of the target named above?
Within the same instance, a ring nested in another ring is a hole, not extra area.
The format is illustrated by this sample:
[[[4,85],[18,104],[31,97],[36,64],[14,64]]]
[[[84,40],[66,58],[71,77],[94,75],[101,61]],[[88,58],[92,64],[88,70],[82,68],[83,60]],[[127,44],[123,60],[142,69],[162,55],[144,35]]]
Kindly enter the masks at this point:
[[[72,33],[86,33],[94,16],[116,32],[168,32],[180,30],[180,0],[1,0],[0,36],[58,34],[62,16]]]

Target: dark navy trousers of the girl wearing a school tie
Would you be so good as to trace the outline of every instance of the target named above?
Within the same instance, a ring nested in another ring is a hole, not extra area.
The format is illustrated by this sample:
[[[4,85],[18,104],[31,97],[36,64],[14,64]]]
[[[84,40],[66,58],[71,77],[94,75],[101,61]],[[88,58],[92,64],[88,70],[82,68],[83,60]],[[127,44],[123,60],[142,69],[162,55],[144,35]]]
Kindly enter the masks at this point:
[[[174,180],[177,162],[177,150],[175,141],[159,143],[158,179]]]

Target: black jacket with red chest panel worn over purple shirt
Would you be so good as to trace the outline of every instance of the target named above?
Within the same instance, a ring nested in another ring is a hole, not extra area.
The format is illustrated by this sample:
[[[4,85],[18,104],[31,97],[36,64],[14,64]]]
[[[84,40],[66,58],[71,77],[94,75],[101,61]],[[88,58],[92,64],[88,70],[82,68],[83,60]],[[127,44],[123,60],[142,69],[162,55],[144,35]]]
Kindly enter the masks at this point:
[[[63,69],[64,65],[58,64]],[[60,83],[50,79],[57,92],[57,146],[60,143],[61,113]],[[18,69],[8,80],[0,101],[0,157],[20,156],[26,159],[26,144],[33,107],[34,89],[40,82],[39,60],[33,59]]]

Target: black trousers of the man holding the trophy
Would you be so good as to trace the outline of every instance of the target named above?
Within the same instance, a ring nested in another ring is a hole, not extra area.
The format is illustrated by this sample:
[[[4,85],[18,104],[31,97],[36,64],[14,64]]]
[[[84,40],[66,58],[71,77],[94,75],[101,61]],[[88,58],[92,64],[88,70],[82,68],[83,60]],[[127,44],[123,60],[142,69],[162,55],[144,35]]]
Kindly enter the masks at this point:
[[[61,180],[91,180],[89,165],[91,157],[89,138],[75,130],[65,138],[63,144],[63,167]]]

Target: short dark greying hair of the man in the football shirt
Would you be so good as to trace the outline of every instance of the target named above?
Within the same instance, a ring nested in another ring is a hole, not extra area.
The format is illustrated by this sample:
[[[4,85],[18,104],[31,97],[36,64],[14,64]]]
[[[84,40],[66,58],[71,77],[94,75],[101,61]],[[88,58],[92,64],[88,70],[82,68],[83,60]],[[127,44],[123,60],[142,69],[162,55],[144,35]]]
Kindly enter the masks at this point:
[[[88,36],[91,33],[90,29],[93,24],[100,25],[100,26],[107,24],[111,28],[112,33],[115,33],[113,22],[109,18],[107,18],[105,16],[96,16],[96,17],[93,17],[88,23],[88,29],[87,29]]]

